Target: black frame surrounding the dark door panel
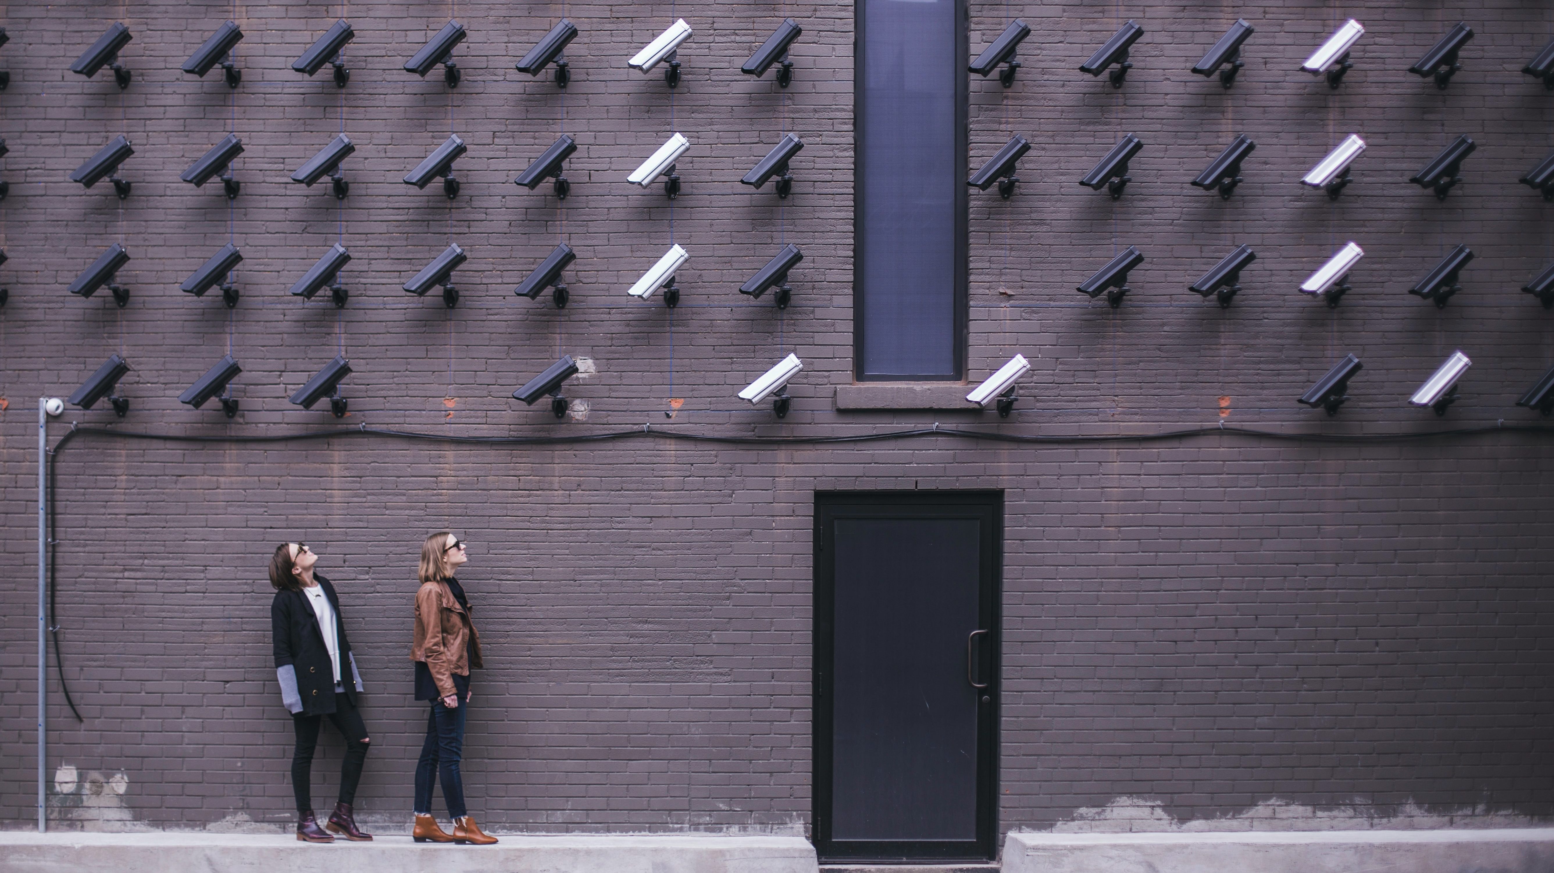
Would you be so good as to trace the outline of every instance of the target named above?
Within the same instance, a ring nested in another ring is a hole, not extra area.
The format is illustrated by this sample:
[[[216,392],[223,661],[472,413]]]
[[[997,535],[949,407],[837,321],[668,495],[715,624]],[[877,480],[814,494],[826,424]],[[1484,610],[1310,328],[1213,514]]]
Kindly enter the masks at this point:
[[[834,527],[838,517],[942,519],[976,517],[984,522],[979,548],[977,666],[988,683],[990,702],[977,710],[976,840],[831,840],[831,659],[834,634]],[[1002,491],[816,491],[814,492],[814,635],[811,660],[811,839],[825,861],[991,861],[998,856],[998,744],[1002,649]]]

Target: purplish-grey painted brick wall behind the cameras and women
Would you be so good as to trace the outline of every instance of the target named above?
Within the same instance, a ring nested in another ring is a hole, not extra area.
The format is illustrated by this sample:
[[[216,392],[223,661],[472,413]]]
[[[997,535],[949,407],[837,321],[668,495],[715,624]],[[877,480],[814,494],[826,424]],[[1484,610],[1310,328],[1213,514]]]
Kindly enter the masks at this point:
[[[583,31],[573,81],[511,68],[559,16]],[[1554,146],[1554,95],[1520,67],[1554,34],[1535,5],[1416,9],[1371,3],[1184,8],[971,5],[973,51],[1015,17],[1035,30],[1016,84],[973,78],[971,165],[1010,134],[1037,148],[1013,200],[971,196],[970,371],[1019,351],[1033,373],[1015,415],[836,412],[852,381],[852,8],[803,5],[135,3],[12,6],[0,48],[0,491],[9,584],[0,593],[0,819],[33,816],[36,398],[67,395],[109,353],[135,371],[134,409],[68,421],[185,435],[280,435],[336,426],[286,402],[343,348],[351,415],[444,435],[640,429],[834,436],[934,421],[1007,433],[1114,435],[1237,426],[1374,435],[1285,443],[1015,446],[931,436],[772,447],[637,438],[493,447],[353,436],[193,444],[81,436],[59,458],[59,586],[75,725],[57,694],[50,770],[124,772],[140,822],[289,817],[289,719],[267,651],[264,556],[305,539],[347,596],[371,694],[359,805],[402,814],[421,732],[409,697],[409,603],[421,536],[474,545],[465,573],[490,638],[466,761],[471,808],[497,826],[796,828],[810,809],[810,511],[830,488],[1001,488],[1005,676],[1001,825],[1047,828],[1122,797],[1178,819],[1268,802],[1451,822],[1554,814],[1548,747],[1554,547],[1542,489],[1554,460],[1528,433],[1391,440],[1537,421],[1515,398],[1554,362],[1549,314],[1517,289],[1554,259],[1554,207],[1515,179]],[[449,92],[399,70],[451,16],[469,30]],[[805,28],[793,87],[738,64],[783,16]],[[1231,90],[1189,73],[1237,16],[1257,28]],[[1296,70],[1344,16],[1369,28],[1336,92]],[[247,34],[244,82],[179,64],[227,17]],[[357,33],[342,92],[289,62],[337,17]],[[684,84],[625,59],[674,20],[696,36]],[[1125,19],[1147,34],[1120,90],[1077,65]],[[135,81],[84,81],[70,61],[109,23],[135,34]],[[1450,89],[1406,67],[1458,20],[1478,36]],[[1207,23],[1203,23],[1207,22]],[[673,117],[673,120],[671,120]],[[224,132],[247,151],[232,205],[177,174]],[[343,205],[287,180],[339,130]],[[511,179],[559,132],[572,197]],[[670,132],[693,143],[673,210],[625,176]],[[738,177],[783,130],[803,137],[794,194]],[[120,203],[67,176],[124,132],[137,154]],[[399,182],[457,132],[463,191]],[[1124,134],[1145,141],[1113,202],[1075,185]],[[1235,135],[1257,151],[1231,200],[1190,188]],[[1369,151],[1336,202],[1296,183],[1349,132]],[[1479,141],[1437,202],[1406,183],[1458,134]],[[692,258],[681,306],[625,289],[671,241]],[[177,284],[228,239],[242,294]],[[354,259],[336,311],[286,289],[334,241]],[[558,239],[578,250],[572,304],[510,292]],[[1336,311],[1294,287],[1338,245],[1368,256]],[[65,284],[110,242],[126,309]],[[399,284],[449,241],[469,252],[444,309]],[[794,304],[735,287],[797,242]],[[1257,250],[1221,311],[1186,286],[1235,244]],[[1405,289],[1451,245],[1478,258],[1436,308]],[[1145,264],[1120,309],[1074,286],[1114,250]],[[228,351],[238,419],[176,396]],[[1455,348],[1473,357],[1445,419],[1406,396]],[[805,371],[783,421],[735,391],[788,351]],[[597,373],[556,423],[508,393],[559,354]],[[1329,419],[1298,407],[1343,354],[1366,370]],[[673,416],[665,413],[671,412]],[[336,755],[331,752],[328,755]],[[315,767],[328,798],[334,763]],[[1409,806],[1414,805],[1414,806]],[[68,816],[68,812],[67,812]],[[1352,823],[1352,820],[1350,820]],[[1257,826],[1270,826],[1260,822]]]

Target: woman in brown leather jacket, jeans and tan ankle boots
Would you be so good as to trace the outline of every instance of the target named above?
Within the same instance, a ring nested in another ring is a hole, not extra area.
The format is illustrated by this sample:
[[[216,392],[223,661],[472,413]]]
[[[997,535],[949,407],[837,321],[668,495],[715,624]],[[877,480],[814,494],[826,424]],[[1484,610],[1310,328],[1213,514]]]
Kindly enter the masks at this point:
[[[454,576],[469,556],[465,544],[448,531],[421,545],[421,587],[415,592],[415,699],[430,701],[426,743],[415,766],[415,842],[490,845],[496,837],[480,833],[465,809],[465,783],[458,761],[465,746],[465,713],[469,710],[469,670],[480,663],[480,634],[469,614],[469,598]],[[438,774],[443,800],[454,819],[449,834],[432,817],[432,783]]]

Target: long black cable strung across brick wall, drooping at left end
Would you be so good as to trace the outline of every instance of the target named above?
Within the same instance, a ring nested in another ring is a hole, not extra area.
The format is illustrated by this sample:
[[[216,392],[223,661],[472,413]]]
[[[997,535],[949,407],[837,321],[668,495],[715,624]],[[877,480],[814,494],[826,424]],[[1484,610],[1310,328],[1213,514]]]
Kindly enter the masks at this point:
[[[1228,433],[1232,436],[1249,436],[1260,440],[1274,440],[1279,443],[1329,443],[1329,444],[1344,444],[1344,443],[1419,443],[1423,440],[1445,440],[1445,438],[1473,438],[1484,436],[1489,433],[1538,433],[1538,435],[1554,435],[1554,427],[1535,427],[1529,424],[1493,424],[1481,427],[1456,427],[1450,430],[1420,430],[1411,433],[1284,433],[1279,430],[1257,430],[1253,427],[1189,427],[1184,430],[1159,430],[1153,433],[1099,433],[1099,435],[1043,435],[1043,433],[1001,433],[995,430],[965,430],[959,427],[940,427],[934,424],[932,427],[915,427],[911,430],[880,430],[872,433],[852,433],[842,436],[735,436],[723,433],[695,433],[687,430],[665,430],[643,424],[639,429],[631,430],[606,430],[601,433],[572,433],[566,436],[460,436],[452,433],[420,433],[415,430],[393,430],[385,427],[367,427],[365,424],[359,427],[336,427],[329,430],[305,430],[300,433],[270,433],[270,435],[190,435],[190,433],[146,433],[137,430],[115,430],[110,427],[81,427],[71,423],[70,432],[54,443],[54,449],[50,452],[56,458],[59,452],[70,444],[78,435],[93,435],[93,436],[112,436],[118,440],[163,440],[171,443],[292,443],[306,440],[333,440],[337,436],[390,436],[396,440],[416,440],[429,443],[462,443],[474,446],[567,446],[578,443],[608,443],[615,440],[637,440],[637,438],[660,438],[660,440],[684,440],[692,443],[721,443],[733,446],[819,446],[831,443],[876,443],[881,440],[908,440],[917,436],[963,436],[968,440],[987,440],[991,443],[1015,443],[1015,444],[1038,444],[1038,446],[1072,446],[1083,443],[1161,443],[1167,440],[1189,440],[1193,436],[1207,436],[1211,433]],[[70,688],[65,687],[65,666],[59,654],[59,621],[54,620],[54,595],[57,586],[54,584],[54,547],[57,545],[57,537],[54,536],[54,463],[48,464],[48,610],[51,632],[54,635],[54,663],[59,666],[59,687],[65,693],[65,701],[70,702],[70,711],[76,715],[76,721],[84,721],[81,713],[76,711],[76,704],[70,699]]]

